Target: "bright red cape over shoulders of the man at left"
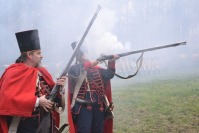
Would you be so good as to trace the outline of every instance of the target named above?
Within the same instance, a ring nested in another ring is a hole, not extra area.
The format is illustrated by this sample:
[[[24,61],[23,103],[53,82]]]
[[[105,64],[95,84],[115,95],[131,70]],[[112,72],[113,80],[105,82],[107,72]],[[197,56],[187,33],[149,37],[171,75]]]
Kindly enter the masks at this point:
[[[0,133],[7,133],[5,116],[31,117],[37,97],[36,80],[41,72],[50,87],[54,86],[45,68],[28,67],[23,63],[9,66],[0,79]],[[57,118],[57,114],[55,116]],[[58,119],[59,120],[59,119]],[[56,122],[59,125],[59,122]]]

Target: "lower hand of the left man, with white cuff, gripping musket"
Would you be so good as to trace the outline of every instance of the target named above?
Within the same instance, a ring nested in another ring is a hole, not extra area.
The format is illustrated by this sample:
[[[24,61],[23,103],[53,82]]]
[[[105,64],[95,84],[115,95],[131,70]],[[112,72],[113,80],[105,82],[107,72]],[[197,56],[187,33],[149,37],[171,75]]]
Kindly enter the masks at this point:
[[[43,95],[39,98],[39,106],[42,107],[46,112],[49,112],[53,109],[53,102],[46,99],[46,96]]]

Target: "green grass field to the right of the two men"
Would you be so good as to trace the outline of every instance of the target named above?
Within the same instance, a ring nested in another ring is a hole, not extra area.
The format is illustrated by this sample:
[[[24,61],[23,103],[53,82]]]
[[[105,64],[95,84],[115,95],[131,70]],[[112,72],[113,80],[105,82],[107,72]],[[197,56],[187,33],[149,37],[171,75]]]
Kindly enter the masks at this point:
[[[114,133],[199,133],[199,74],[118,81]]]

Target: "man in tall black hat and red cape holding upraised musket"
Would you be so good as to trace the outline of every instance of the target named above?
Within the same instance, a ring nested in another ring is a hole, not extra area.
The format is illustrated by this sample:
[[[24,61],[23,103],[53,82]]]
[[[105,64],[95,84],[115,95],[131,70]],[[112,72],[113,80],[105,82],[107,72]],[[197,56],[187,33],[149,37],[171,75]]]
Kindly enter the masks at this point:
[[[59,127],[59,114],[45,98],[55,85],[48,71],[39,67],[43,58],[37,30],[16,33],[21,56],[0,78],[0,133],[35,133],[42,111],[51,111]],[[57,84],[64,85],[65,77]],[[53,131],[52,131],[53,132]]]

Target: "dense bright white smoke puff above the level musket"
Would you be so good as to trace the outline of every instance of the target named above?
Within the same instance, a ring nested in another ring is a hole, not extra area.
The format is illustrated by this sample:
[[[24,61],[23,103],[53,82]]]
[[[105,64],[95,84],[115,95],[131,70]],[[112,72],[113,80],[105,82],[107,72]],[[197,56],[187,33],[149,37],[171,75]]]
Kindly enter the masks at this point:
[[[118,16],[115,11],[102,7],[86,39],[90,58],[99,57],[100,54],[114,54],[130,49],[130,43],[122,43],[113,32],[117,22]]]

